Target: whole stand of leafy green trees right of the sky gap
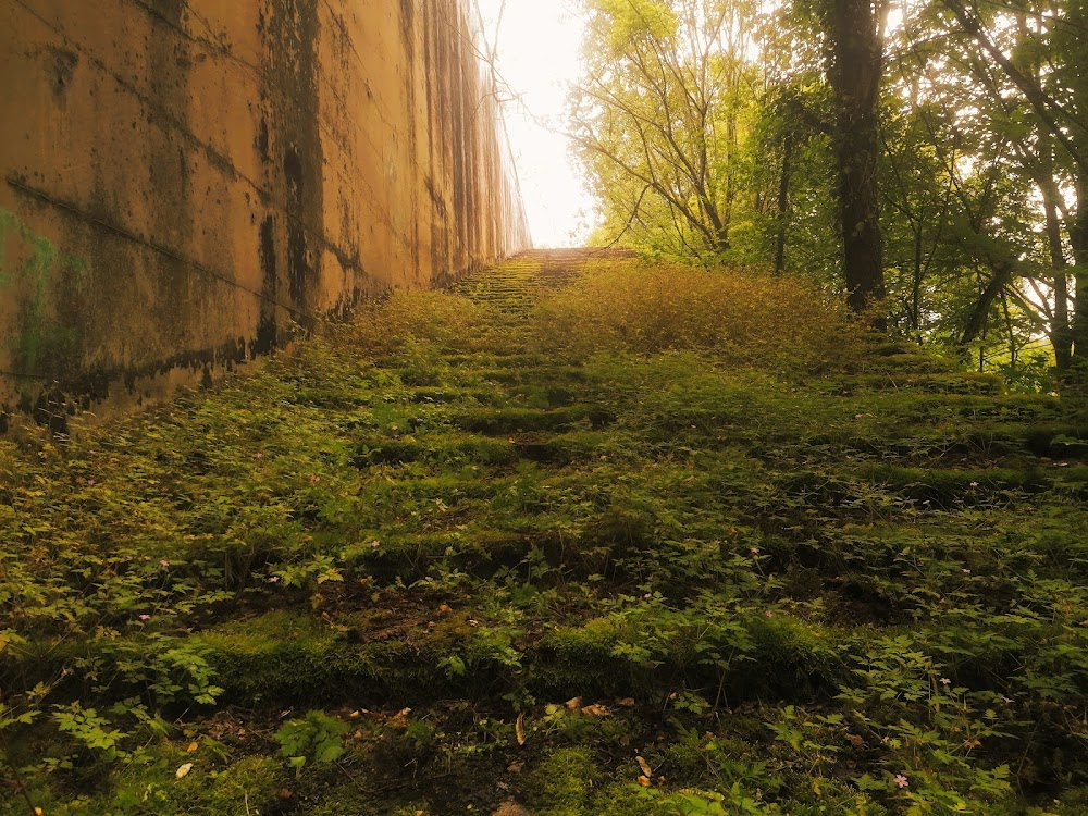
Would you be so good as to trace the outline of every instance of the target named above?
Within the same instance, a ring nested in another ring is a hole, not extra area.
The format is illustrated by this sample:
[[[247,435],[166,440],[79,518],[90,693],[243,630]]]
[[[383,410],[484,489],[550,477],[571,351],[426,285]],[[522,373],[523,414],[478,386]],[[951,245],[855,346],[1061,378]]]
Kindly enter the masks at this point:
[[[595,242],[802,275],[1040,382],[1088,357],[1084,0],[581,0]]]

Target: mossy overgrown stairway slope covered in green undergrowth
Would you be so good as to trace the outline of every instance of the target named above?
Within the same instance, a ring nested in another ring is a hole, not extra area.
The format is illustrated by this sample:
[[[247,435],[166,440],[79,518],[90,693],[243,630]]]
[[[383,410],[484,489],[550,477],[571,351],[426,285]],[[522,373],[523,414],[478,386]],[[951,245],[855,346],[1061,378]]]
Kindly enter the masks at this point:
[[[1086,459],[789,282],[398,293],[0,443],[0,814],[1085,813]]]

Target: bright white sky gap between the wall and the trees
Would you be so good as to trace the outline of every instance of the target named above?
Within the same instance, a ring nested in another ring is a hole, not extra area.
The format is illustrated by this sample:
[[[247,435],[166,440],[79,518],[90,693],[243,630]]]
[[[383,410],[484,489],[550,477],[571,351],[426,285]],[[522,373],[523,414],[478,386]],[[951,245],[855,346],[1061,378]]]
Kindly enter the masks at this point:
[[[503,0],[477,2],[493,42]],[[565,125],[566,85],[578,76],[580,44],[581,24],[568,0],[506,0],[496,62],[520,97],[506,104],[506,126],[537,247],[581,246],[593,228],[595,202],[568,157],[567,139],[543,126]]]

